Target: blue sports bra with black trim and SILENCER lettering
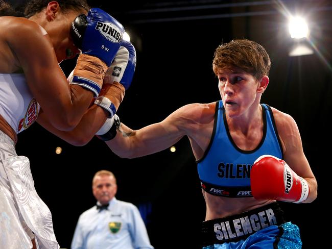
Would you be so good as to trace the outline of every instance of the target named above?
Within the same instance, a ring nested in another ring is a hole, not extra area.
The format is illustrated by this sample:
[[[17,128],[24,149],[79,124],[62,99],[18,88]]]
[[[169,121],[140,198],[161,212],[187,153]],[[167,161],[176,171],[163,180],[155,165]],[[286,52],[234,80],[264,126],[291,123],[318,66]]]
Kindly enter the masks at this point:
[[[263,107],[263,138],[252,151],[243,151],[230,136],[222,101],[216,105],[214,130],[202,159],[197,160],[202,188],[214,195],[226,197],[251,197],[250,169],[262,155],[282,159],[279,140],[271,108]]]

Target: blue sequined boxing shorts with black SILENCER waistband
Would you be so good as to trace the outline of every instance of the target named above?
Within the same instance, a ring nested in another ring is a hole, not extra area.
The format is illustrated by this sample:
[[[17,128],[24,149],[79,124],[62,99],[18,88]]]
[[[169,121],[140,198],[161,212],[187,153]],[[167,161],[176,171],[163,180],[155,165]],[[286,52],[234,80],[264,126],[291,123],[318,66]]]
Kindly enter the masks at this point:
[[[299,228],[284,222],[283,211],[272,203],[238,215],[204,221],[203,249],[281,249],[302,247]]]

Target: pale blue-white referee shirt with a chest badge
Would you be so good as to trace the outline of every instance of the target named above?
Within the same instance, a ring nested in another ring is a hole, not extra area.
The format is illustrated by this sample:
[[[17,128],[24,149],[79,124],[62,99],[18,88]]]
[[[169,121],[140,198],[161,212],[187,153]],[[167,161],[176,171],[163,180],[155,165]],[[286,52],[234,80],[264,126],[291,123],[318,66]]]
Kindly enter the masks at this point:
[[[107,209],[94,206],[77,222],[72,249],[154,249],[137,207],[115,197]]]

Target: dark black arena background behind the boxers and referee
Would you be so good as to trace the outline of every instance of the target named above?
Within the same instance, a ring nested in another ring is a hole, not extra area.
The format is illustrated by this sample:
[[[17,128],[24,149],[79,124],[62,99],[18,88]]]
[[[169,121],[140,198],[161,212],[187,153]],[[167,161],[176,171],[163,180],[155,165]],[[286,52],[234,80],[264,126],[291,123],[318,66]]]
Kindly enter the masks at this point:
[[[330,219],[323,200],[329,196],[331,172],[331,1],[93,1],[90,5],[120,21],[136,47],[135,76],[118,110],[121,121],[132,129],[161,121],[185,104],[219,100],[211,62],[221,42],[247,38],[267,49],[272,68],[262,103],[296,120],[319,185],[312,204],[281,206],[286,218],[300,227],[303,248],[324,243],[327,232],[319,224]],[[288,56],[293,41],[287,13],[306,16],[314,55]],[[74,65],[75,60],[61,64],[65,73]],[[57,146],[63,148],[60,155],[55,154]],[[156,249],[200,248],[197,238],[205,205],[196,163],[186,137],[176,149],[121,159],[97,138],[75,147],[38,124],[20,133],[17,143],[18,155],[31,161],[37,192],[52,211],[60,246],[67,248],[79,215],[96,203],[91,180],[100,169],[114,172],[119,200],[139,207]]]

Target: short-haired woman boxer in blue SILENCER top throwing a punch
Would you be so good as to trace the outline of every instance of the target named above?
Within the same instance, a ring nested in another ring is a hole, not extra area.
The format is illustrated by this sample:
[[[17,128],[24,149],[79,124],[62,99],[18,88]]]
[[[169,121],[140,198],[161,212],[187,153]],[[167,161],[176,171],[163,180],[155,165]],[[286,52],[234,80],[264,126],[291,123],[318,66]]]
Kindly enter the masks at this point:
[[[317,182],[294,119],[260,104],[270,58],[254,41],[233,40],[216,49],[212,65],[222,101],[183,106],[135,131],[116,117],[100,137],[125,158],[188,137],[206,203],[204,248],[300,248],[298,227],[283,220],[276,200],[313,202]]]

